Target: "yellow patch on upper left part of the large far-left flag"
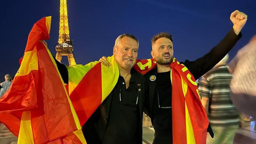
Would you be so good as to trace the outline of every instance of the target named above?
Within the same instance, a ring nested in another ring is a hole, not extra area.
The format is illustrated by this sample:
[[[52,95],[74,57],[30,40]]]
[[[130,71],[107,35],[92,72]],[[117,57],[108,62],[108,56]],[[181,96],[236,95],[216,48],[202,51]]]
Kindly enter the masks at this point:
[[[34,47],[32,51],[25,52],[15,77],[27,75],[31,72],[31,70],[38,70],[38,57],[36,47]]]

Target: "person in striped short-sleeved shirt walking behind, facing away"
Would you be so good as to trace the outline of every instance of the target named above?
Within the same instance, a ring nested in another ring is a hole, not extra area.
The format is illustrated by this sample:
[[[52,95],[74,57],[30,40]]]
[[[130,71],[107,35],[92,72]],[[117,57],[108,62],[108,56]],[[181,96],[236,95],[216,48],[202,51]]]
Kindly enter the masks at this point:
[[[231,144],[239,128],[239,112],[230,98],[232,74],[228,71],[227,61],[228,54],[202,77],[198,86],[214,132],[214,138],[207,136],[207,144]]]

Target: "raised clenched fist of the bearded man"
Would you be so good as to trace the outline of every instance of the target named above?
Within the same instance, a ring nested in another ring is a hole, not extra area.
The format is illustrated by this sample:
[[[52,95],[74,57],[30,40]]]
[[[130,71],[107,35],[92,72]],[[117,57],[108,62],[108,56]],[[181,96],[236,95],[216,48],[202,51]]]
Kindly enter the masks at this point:
[[[238,35],[247,21],[247,15],[239,10],[235,10],[231,13],[230,20],[234,24],[234,32]]]

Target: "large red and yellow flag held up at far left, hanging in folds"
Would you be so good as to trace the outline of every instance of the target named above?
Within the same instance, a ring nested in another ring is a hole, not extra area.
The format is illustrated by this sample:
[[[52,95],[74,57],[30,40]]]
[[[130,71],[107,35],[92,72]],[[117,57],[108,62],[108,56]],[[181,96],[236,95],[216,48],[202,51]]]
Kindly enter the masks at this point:
[[[29,33],[20,67],[0,99],[0,122],[18,136],[18,144],[86,143],[77,114],[44,40],[51,17]]]

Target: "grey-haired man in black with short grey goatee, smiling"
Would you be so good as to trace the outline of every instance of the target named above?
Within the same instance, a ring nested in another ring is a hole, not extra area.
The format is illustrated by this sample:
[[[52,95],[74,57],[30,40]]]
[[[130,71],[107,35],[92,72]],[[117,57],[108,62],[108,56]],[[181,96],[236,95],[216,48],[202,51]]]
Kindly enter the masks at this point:
[[[109,96],[82,126],[88,144],[141,144],[143,100],[147,81],[132,67],[138,54],[138,40],[130,34],[118,36],[113,55],[120,76]],[[68,83],[65,65],[55,60],[63,81]]]

